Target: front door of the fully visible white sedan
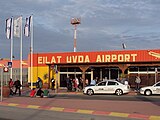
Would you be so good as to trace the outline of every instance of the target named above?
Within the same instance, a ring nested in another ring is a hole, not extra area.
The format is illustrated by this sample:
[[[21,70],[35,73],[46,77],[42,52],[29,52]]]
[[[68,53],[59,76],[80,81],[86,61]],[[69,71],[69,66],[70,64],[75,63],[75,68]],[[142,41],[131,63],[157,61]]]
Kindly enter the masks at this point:
[[[102,81],[95,86],[95,93],[105,93],[106,81]]]

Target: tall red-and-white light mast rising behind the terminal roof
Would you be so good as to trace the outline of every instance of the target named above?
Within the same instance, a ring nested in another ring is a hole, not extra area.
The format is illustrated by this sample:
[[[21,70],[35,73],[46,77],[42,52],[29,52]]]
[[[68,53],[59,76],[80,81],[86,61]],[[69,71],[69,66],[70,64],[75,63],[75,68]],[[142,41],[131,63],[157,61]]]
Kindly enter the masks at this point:
[[[72,18],[71,19],[71,24],[74,25],[74,52],[76,52],[77,25],[81,24],[81,19],[80,18]]]

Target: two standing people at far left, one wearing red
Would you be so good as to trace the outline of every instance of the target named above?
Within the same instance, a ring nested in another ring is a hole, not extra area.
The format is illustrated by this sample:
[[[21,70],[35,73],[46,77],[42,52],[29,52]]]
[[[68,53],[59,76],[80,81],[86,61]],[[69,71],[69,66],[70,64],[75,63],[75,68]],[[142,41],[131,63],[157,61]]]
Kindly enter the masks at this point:
[[[10,89],[10,95],[16,95],[17,93],[17,90],[19,91],[19,96],[21,96],[21,83],[20,83],[20,80],[16,80],[15,82],[13,82],[12,78],[10,78],[9,80],[9,89]],[[14,91],[14,88],[15,88],[15,91]]]

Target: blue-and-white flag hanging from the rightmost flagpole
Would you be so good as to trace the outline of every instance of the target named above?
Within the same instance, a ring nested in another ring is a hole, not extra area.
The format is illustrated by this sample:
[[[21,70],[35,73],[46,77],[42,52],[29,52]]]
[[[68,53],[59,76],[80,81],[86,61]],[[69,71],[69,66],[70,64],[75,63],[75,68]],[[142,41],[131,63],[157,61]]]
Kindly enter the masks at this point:
[[[27,37],[29,37],[30,35],[31,19],[32,19],[31,16],[29,18],[26,18],[26,24],[24,27],[24,35]]]

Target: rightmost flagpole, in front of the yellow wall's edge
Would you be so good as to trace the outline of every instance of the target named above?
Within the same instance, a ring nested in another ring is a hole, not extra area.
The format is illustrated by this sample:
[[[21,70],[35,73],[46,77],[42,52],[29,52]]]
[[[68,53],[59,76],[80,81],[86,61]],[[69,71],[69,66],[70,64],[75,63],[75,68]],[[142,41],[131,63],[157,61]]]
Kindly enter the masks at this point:
[[[31,45],[30,45],[30,55],[31,55],[31,89],[33,88],[33,15],[31,15]]]

